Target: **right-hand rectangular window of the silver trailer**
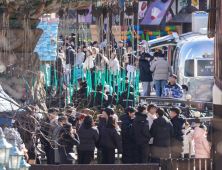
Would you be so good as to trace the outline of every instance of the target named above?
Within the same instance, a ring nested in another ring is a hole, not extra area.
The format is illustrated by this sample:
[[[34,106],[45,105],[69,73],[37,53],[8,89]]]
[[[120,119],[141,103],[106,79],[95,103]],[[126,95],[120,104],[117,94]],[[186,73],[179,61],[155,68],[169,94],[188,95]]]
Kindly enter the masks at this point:
[[[213,60],[197,60],[197,76],[213,76]]]

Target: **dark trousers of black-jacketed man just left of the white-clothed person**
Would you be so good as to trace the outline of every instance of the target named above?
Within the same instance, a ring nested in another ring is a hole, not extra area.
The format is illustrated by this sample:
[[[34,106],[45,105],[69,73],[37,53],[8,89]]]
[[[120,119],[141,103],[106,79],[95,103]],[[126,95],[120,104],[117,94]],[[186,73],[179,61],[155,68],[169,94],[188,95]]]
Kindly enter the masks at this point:
[[[148,163],[149,143],[137,145],[139,154],[139,163]]]

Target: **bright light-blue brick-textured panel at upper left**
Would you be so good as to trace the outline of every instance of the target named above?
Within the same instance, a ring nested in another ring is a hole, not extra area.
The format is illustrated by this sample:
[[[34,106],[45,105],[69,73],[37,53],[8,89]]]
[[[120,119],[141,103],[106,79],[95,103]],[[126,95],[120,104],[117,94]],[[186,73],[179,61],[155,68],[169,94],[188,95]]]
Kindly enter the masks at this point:
[[[40,22],[37,28],[44,32],[40,37],[34,52],[37,52],[40,61],[55,61],[57,56],[57,43],[52,44],[51,39],[57,40],[58,22]]]

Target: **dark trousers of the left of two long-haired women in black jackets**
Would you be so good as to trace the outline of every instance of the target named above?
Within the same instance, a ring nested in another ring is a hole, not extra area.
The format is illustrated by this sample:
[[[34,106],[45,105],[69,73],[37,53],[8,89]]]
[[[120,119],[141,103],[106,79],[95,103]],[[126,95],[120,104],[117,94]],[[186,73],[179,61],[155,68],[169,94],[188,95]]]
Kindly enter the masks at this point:
[[[78,152],[78,164],[90,164],[94,151],[80,151]]]

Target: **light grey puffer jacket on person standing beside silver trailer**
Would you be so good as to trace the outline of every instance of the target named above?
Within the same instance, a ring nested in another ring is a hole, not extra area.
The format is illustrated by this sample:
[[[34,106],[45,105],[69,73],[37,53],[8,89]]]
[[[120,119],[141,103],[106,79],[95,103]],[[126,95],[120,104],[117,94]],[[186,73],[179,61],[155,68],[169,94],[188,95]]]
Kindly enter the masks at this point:
[[[150,71],[154,73],[154,80],[167,80],[169,73],[172,74],[170,63],[164,58],[158,58],[151,67]]]

